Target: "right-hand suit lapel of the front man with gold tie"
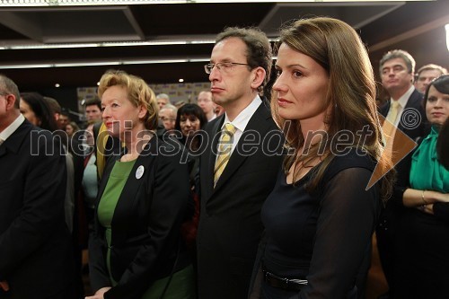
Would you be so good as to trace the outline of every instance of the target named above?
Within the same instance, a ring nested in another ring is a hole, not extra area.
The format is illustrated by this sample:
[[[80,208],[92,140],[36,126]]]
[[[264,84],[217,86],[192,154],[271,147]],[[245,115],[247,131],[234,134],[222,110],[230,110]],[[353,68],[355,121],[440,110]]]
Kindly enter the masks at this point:
[[[218,179],[218,181],[216,182],[216,188],[214,189],[214,192],[220,189],[226,183],[227,180],[232,178],[233,173],[237,171],[239,167],[242,165],[242,163],[248,158],[248,154],[244,154],[245,136],[248,136],[248,134],[251,134],[251,132],[254,131],[257,131],[258,133],[263,132],[267,126],[266,121],[267,118],[269,118],[269,111],[262,102],[259,108],[256,110],[256,112],[254,112],[254,114],[252,115],[250,121],[248,122],[245,131],[243,132],[241,138],[239,139],[239,143],[235,146],[233,154],[231,155],[231,158],[229,159],[229,162],[225,167],[225,171],[223,171],[222,175],[220,176],[220,179]],[[260,144],[263,140],[263,135],[264,134],[258,134],[258,136],[260,137],[260,140],[258,140]],[[251,141],[251,144],[253,143],[254,140]],[[260,150],[260,146],[258,146],[258,150]],[[212,178],[213,176],[214,174],[212,174]]]

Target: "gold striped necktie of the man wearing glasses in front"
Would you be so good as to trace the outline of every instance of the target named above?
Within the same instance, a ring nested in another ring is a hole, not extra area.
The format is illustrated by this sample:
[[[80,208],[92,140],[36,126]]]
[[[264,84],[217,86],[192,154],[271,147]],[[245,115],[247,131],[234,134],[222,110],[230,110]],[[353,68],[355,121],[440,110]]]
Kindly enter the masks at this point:
[[[225,124],[225,128],[222,130],[222,135],[218,143],[218,153],[216,158],[216,167],[214,169],[214,187],[216,182],[225,171],[226,164],[231,157],[231,149],[233,147],[233,134],[237,128],[231,123]]]

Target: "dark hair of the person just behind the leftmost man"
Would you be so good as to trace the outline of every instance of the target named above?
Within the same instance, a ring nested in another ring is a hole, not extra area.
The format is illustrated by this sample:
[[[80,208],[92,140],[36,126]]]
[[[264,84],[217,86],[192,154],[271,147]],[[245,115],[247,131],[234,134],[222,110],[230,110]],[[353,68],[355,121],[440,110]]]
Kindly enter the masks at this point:
[[[47,101],[38,92],[22,92],[22,100],[25,101],[36,117],[40,119],[40,128],[50,132],[57,130],[57,122],[52,111],[48,107]]]

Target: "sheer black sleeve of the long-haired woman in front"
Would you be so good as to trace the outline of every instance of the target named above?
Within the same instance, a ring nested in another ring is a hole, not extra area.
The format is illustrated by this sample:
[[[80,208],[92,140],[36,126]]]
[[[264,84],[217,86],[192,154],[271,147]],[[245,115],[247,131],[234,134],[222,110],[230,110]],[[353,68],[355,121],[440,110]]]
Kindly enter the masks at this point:
[[[348,168],[325,185],[309,284],[295,297],[346,298],[354,289],[381,207],[376,185],[365,190],[371,174]]]

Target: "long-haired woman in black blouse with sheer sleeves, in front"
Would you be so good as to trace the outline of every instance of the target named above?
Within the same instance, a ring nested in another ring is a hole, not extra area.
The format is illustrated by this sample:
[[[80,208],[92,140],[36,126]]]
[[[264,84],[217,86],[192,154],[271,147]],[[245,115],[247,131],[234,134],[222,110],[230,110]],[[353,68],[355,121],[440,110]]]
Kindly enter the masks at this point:
[[[392,175],[370,180],[389,167],[372,66],[347,23],[313,18],[281,31],[276,69],[271,108],[288,153],[262,207],[251,298],[357,298]]]

